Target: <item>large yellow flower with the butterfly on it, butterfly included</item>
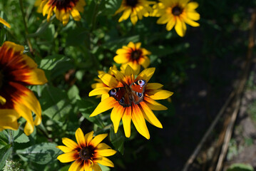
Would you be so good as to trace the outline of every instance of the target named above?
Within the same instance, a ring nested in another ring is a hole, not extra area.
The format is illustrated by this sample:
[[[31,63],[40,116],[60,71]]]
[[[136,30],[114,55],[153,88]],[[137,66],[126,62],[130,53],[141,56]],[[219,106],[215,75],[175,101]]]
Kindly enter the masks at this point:
[[[130,121],[132,120],[138,133],[149,139],[150,134],[145,120],[158,128],[163,128],[152,110],[167,110],[164,105],[155,100],[169,98],[170,95],[173,95],[168,90],[161,90],[163,85],[160,83],[148,83],[154,72],[155,68],[147,68],[135,78],[133,69],[126,66],[123,73],[117,70],[113,71],[115,76],[108,73],[98,76],[107,87],[96,88],[89,93],[89,96],[108,94],[109,97],[98,104],[90,117],[113,108],[111,120],[115,133],[117,133],[122,119],[126,137],[129,138]]]

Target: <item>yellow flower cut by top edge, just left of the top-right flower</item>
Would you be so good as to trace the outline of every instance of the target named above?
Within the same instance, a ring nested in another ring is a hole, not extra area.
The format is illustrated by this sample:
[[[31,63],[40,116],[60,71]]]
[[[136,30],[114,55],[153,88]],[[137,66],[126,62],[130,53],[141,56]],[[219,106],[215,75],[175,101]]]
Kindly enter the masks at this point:
[[[123,11],[123,15],[118,22],[126,20],[130,16],[130,21],[135,25],[138,19],[141,20],[143,16],[148,17],[150,12],[153,11],[150,4],[155,4],[155,2],[146,0],[123,0],[121,7],[115,13],[118,14]]]

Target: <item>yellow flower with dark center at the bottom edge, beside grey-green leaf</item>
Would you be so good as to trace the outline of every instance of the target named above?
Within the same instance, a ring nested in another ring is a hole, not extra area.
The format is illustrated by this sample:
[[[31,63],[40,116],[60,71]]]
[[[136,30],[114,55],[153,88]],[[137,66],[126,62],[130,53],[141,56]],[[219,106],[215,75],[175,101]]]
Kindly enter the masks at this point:
[[[76,142],[69,138],[62,138],[64,145],[57,148],[65,152],[57,157],[61,162],[73,162],[68,171],[101,171],[98,164],[114,167],[107,157],[116,154],[116,150],[101,142],[108,134],[93,136],[93,131],[83,135],[81,128],[76,130]],[[66,146],[65,146],[66,145]]]

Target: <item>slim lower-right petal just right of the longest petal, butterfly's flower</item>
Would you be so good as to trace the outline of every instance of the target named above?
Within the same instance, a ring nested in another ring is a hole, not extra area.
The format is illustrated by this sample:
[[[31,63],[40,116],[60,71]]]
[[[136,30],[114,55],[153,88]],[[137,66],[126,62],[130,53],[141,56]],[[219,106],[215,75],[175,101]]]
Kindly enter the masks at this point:
[[[148,105],[145,104],[145,102],[140,102],[140,110],[143,111],[144,117],[152,124],[155,125],[158,128],[163,128],[163,125],[160,123],[158,118],[155,117],[155,114],[152,112],[152,110],[148,107]]]

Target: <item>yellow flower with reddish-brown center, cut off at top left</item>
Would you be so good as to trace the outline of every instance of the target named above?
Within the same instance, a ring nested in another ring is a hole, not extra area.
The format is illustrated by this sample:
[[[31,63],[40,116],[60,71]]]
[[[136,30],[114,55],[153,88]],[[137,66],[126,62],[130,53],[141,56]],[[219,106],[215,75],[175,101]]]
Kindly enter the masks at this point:
[[[37,10],[39,13],[43,13],[43,16],[47,14],[47,21],[50,21],[50,17],[54,11],[56,18],[62,21],[63,26],[68,24],[70,15],[75,21],[80,21],[81,16],[79,12],[83,12],[83,6],[85,5],[85,0],[37,0],[35,3],[35,6],[39,6]]]

